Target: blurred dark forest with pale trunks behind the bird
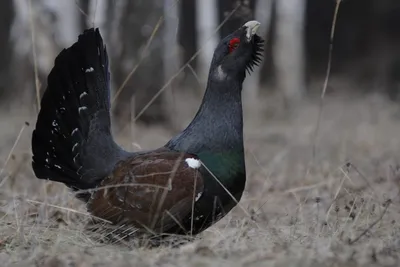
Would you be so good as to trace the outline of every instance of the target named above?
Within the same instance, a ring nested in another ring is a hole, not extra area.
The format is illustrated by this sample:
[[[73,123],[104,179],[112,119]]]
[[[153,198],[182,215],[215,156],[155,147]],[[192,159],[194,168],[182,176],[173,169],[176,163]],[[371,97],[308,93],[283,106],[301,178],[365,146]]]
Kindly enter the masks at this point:
[[[334,0],[0,1],[0,105],[37,111],[54,58],[83,29],[95,26],[108,46],[113,115],[123,123],[133,112],[138,122],[168,125],[174,95],[201,97],[216,43],[252,19],[262,23],[267,42],[263,66],[246,81],[245,97],[277,93],[292,104],[320,94],[335,5]],[[331,80],[353,86],[331,85],[327,93],[380,91],[396,100],[399,12],[396,0],[341,3]]]

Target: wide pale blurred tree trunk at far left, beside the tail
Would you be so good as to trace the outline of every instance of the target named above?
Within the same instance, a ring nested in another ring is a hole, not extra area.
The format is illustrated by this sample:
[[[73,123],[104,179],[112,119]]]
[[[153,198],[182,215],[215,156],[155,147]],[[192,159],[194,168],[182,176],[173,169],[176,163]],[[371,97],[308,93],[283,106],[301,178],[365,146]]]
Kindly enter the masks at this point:
[[[14,4],[13,94],[18,97],[19,105],[32,107],[37,112],[54,58],[61,48],[76,40],[79,23],[74,12],[77,9],[75,3],[58,5],[50,0],[14,0]]]

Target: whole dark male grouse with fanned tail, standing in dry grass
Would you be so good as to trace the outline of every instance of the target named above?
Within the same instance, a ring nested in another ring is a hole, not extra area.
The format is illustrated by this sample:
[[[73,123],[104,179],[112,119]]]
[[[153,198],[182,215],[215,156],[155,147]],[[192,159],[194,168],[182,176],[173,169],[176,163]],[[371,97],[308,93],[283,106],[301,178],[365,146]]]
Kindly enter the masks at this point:
[[[260,23],[216,47],[193,121],[163,147],[127,152],[111,134],[110,73],[98,29],[56,57],[32,135],[39,179],[61,182],[88,211],[144,232],[195,235],[226,215],[246,182],[242,84],[261,62]]]

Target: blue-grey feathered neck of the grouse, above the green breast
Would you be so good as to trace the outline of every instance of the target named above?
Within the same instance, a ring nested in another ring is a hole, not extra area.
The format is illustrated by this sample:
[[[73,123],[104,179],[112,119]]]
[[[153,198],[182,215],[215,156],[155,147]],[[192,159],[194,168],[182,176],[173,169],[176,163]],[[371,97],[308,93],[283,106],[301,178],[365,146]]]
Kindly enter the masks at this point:
[[[243,151],[242,81],[209,79],[193,121],[167,146],[189,153]]]

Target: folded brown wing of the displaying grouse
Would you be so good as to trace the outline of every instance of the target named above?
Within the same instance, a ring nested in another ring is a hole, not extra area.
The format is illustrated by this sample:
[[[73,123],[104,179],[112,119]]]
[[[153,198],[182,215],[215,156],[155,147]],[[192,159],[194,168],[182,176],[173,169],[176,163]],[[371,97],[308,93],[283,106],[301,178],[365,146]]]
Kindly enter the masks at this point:
[[[181,221],[203,192],[192,155],[153,151],[120,162],[103,180],[88,203],[89,211],[113,223],[162,232]]]

